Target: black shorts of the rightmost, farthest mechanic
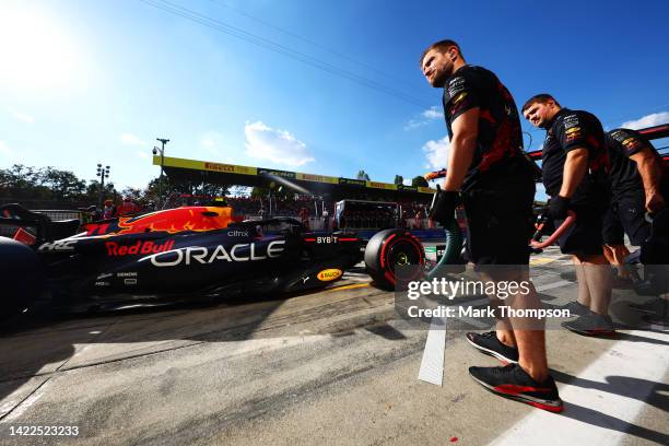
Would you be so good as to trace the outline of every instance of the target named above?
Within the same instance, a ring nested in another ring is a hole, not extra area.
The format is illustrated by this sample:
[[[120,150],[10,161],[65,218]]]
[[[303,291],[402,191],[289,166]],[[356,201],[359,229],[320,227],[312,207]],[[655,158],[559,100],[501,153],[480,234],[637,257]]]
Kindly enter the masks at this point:
[[[626,233],[632,245],[641,246],[650,235],[650,223],[646,221],[645,214],[643,192],[631,192],[614,198],[605,215],[603,243],[623,245]]]

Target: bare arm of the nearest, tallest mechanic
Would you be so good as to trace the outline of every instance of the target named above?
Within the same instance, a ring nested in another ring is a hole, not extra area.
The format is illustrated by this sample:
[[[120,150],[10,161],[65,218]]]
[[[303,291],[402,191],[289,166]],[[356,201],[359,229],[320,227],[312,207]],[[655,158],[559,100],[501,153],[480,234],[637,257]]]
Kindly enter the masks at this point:
[[[458,191],[465,181],[465,176],[477,146],[479,136],[479,107],[470,108],[458,116],[451,125],[453,138],[448,148],[448,167],[444,190]]]

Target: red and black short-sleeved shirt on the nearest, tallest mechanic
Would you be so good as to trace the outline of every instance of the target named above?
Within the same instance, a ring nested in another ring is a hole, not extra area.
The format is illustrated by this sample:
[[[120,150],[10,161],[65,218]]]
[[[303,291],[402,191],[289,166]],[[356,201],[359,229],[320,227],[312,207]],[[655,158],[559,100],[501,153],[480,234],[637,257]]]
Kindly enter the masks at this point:
[[[449,138],[453,121],[479,107],[479,136],[463,191],[532,177],[528,160],[521,156],[523,133],[516,103],[492,71],[461,67],[446,81],[443,102]]]

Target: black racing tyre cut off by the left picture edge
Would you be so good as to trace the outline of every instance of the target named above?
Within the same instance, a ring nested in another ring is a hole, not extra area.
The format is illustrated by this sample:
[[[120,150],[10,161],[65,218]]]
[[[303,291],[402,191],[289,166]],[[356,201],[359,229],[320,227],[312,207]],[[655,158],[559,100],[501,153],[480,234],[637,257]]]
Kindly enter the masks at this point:
[[[0,237],[0,320],[28,308],[44,283],[37,253],[22,243]]]

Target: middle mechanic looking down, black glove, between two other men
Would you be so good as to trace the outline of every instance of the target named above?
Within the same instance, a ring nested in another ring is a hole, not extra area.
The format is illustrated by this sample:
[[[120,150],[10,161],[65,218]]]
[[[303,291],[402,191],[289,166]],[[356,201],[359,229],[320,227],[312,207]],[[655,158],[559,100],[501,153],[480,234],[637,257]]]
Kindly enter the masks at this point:
[[[542,181],[551,197],[548,214],[562,224],[567,211],[576,223],[559,239],[563,254],[574,259],[578,298],[570,304],[576,320],[563,326],[580,334],[612,334],[608,316],[611,269],[602,250],[603,214],[610,202],[610,162],[605,132],[592,114],[562,108],[549,94],[530,97],[523,115],[545,129]]]

